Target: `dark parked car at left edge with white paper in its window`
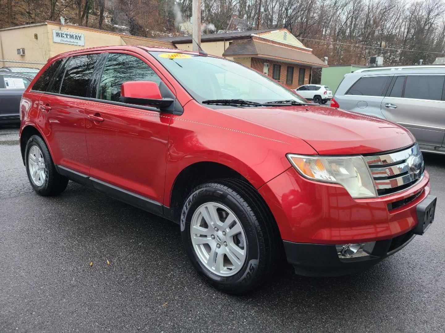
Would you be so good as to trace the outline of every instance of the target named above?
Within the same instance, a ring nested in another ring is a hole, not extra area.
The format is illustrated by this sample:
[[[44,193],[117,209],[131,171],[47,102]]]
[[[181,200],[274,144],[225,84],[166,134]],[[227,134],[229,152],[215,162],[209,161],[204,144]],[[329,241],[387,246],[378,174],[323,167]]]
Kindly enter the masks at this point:
[[[31,81],[28,75],[0,71],[0,123],[20,122],[20,99]]]

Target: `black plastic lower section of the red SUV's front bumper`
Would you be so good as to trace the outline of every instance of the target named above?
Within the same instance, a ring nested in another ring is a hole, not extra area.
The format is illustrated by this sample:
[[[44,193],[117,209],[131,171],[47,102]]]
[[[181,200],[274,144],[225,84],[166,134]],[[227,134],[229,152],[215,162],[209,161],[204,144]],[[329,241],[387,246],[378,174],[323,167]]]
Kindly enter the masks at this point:
[[[339,258],[335,245],[284,241],[287,261],[295,273],[304,276],[340,276],[366,270],[405,247],[415,234],[413,230],[391,239],[377,241],[370,255]]]

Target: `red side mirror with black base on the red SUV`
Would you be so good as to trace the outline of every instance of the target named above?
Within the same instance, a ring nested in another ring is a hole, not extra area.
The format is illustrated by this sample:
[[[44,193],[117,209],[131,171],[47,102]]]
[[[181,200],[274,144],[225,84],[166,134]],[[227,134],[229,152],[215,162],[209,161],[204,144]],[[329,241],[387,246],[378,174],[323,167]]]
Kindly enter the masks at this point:
[[[129,81],[121,85],[121,102],[153,105],[162,109],[170,106],[174,99],[162,98],[161,91],[155,82]]]

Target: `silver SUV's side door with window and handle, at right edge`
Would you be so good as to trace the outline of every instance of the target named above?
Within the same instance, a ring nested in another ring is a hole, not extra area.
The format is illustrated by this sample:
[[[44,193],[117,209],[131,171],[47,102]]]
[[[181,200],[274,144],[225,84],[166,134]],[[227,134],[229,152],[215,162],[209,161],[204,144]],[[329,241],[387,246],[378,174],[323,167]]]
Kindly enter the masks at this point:
[[[425,146],[441,147],[445,135],[443,74],[396,75],[381,103],[388,120],[406,127]]]

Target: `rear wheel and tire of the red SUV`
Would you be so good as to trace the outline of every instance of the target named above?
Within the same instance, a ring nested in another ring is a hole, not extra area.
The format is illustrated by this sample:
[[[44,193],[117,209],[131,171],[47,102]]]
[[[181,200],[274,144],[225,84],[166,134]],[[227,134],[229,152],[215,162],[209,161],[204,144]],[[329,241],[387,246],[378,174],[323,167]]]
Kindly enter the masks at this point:
[[[57,195],[68,185],[68,178],[57,173],[48,147],[38,135],[32,135],[26,143],[25,166],[29,182],[37,194]]]

